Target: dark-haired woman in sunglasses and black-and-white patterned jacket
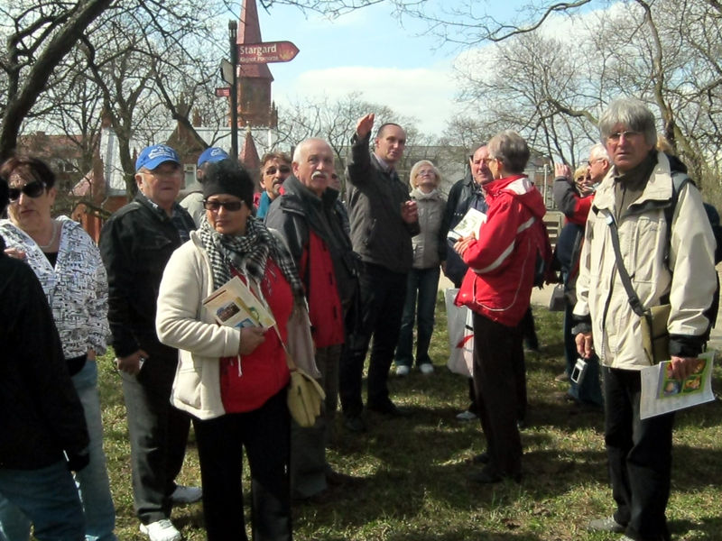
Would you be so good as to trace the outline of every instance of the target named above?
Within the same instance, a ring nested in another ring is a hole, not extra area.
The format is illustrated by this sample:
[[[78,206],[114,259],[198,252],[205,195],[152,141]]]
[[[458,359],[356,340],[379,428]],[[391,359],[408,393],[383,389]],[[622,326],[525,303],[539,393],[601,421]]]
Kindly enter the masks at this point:
[[[96,355],[106,352],[107,280],[100,253],[83,228],[67,216],[52,218],[55,175],[36,158],[10,158],[0,166],[10,187],[9,220],[0,234],[9,255],[26,261],[42,284],[60,332],[63,354],[85,411],[90,463],[76,474],[88,539],[116,539],[116,511],[103,453]],[[0,522],[8,541],[30,537],[19,509],[0,499]]]

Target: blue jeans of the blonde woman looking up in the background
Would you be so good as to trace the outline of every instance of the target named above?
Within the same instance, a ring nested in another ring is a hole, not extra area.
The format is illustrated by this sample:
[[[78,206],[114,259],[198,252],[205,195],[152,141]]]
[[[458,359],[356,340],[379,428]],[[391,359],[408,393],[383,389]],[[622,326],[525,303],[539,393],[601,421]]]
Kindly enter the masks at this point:
[[[416,335],[416,365],[431,363],[429,344],[434,330],[439,273],[439,267],[409,271],[409,278],[406,281],[406,302],[403,305],[401,319],[401,333],[399,334],[399,344],[396,346],[397,365],[411,366],[413,363],[414,315],[419,322],[419,330]]]

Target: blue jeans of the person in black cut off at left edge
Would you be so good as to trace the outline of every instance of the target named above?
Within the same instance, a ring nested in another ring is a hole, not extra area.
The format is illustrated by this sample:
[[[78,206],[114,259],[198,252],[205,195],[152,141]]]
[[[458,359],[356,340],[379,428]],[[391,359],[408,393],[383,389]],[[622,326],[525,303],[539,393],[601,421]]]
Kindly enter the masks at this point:
[[[37,470],[0,469],[0,493],[0,508],[11,506],[32,520],[39,541],[82,541],[83,508],[64,460]],[[5,521],[0,539],[12,539],[6,536]]]

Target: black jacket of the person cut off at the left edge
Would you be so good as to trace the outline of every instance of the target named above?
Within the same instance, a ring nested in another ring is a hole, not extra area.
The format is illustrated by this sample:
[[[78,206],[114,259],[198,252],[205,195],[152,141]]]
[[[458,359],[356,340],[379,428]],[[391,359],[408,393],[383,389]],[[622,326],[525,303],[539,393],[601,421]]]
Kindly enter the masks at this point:
[[[0,468],[34,470],[88,446],[83,408],[32,269],[0,239]]]

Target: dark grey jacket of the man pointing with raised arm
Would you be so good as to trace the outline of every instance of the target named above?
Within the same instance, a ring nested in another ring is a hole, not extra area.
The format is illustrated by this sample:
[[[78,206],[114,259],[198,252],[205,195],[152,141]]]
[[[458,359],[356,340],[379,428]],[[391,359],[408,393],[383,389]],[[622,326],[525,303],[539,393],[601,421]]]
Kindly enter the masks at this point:
[[[397,175],[382,170],[369,154],[369,133],[363,140],[352,139],[347,179],[348,214],[354,252],[363,261],[406,273],[412,268],[412,236],[419,234],[419,222],[406,224],[401,206],[409,201],[408,185]]]

